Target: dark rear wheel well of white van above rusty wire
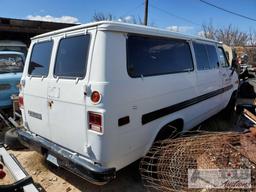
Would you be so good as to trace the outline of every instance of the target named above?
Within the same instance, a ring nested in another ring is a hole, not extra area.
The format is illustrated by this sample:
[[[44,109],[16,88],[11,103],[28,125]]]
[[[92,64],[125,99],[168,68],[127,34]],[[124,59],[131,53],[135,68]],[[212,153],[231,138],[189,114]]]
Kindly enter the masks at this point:
[[[176,133],[179,133],[183,130],[183,126],[184,126],[183,119],[176,119],[166,124],[159,130],[155,138],[155,141],[167,139],[171,136],[175,137]]]

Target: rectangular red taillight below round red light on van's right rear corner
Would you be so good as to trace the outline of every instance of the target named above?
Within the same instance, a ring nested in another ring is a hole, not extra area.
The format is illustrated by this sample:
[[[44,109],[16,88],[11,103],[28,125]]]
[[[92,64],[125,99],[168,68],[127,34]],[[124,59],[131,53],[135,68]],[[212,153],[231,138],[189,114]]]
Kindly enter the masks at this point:
[[[102,132],[102,114],[88,112],[89,129]]]

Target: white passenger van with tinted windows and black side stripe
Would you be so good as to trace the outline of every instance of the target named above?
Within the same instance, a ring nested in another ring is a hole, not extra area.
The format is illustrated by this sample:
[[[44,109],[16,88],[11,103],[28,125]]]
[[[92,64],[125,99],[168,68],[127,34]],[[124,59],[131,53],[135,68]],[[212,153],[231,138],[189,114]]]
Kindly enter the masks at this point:
[[[21,139],[104,184],[227,107],[238,77],[218,42],[108,21],[34,37],[21,85]]]

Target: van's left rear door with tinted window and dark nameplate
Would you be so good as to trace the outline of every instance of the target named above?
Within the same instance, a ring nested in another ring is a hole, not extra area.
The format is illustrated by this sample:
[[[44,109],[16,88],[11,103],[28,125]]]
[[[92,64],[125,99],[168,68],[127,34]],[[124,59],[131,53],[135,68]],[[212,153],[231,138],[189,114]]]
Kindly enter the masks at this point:
[[[53,41],[32,42],[32,50],[22,77],[24,112],[27,127],[50,139],[48,126],[47,85]]]

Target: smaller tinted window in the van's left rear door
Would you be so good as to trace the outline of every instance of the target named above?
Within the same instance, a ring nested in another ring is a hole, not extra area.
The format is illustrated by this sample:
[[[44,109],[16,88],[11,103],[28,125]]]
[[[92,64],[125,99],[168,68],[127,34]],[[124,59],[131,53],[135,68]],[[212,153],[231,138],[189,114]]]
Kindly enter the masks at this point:
[[[52,53],[52,41],[36,43],[33,46],[28,74],[32,76],[47,76]]]

